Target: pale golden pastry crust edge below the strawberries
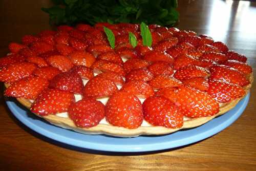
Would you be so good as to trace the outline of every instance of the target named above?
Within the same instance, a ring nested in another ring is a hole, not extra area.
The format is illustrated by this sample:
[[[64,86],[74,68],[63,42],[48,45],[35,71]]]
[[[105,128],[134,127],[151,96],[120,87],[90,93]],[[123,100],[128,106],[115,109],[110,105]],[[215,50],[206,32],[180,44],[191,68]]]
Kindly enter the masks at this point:
[[[250,82],[253,82],[253,76],[252,73],[248,76]],[[217,116],[220,116],[237,105],[237,103],[243,99],[247,93],[249,92],[249,89],[251,87],[251,83],[244,87],[244,90],[246,94],[242,98],[234,99],[227,103],[221,103],[220,104],[220,111],[214,116],[207,116],[207,117],[200,117],[200,118],[186,118],[184,117],[184,124],[181,128],[178,129],[168,129],[163,126],[140,126],[137,129],[126,129],[124,127],[119,126],[113,126],[110,124],[98,124],[97,126],[90,127],[90,128],[80,128],[77,127],[74,122],[70,118],[64,118],[59,117],[57,115],[48,115],[48,116],[39,116],[41,118],[44,118],[48,122],[63,127],[64,129],[70,129],[74,130],[75,132],[79,132],[82,134],[106,134],[106,135],[112,135],[112,136],[118,136],[118,137],[137,137],[139,135],[163,135],[163,134],[170,134],[173,132],[176,132],[178,130],[182,129],[189,129],[192,127],[200,126],[212,119],[214,119]],[[9,85],[5,83],[5,87],[8,87]],[[22,103],[26,108],[30,109],[31,102],[28,99],[24,98],[17,98],[17,100]]]

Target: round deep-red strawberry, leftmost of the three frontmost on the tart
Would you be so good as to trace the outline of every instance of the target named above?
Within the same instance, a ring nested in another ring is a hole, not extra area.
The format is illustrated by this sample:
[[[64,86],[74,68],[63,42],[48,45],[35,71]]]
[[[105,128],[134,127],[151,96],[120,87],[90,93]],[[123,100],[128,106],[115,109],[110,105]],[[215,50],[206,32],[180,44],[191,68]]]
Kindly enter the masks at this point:
[[[93,127],[105,117],[105,106],[93,98],[82,99],[70,105],[69,117],[77,127]]]

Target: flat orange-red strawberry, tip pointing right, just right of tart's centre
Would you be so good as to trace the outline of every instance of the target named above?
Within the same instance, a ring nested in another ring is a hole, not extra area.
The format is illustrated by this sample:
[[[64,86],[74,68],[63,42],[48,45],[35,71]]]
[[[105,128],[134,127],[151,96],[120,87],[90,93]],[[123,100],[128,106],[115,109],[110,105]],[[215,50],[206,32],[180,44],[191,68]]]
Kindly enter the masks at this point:
[[[154,90],[166,87],[179,87],[182,82],[170,75],[157,75],[152,80],[148,81]]]

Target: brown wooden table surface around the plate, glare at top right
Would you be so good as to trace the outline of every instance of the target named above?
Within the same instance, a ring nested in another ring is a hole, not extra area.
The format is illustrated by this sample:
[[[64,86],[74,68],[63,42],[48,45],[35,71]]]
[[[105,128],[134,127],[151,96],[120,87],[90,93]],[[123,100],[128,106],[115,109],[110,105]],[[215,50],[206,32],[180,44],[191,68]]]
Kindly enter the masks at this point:
[[[48,0],[0,1],[0,56],[8,52],[9,42],[50,28],[48,15],[40,11],[49,4]],[[180,0],[178,27],[226,42],[248,57],[255,75],[255,7],[248,1]],[[53,142],[20,123],[2,94],[0,170],[256,170],[255,83],[243,115],[224,131],[188,146],[145,154],[81,151]]]

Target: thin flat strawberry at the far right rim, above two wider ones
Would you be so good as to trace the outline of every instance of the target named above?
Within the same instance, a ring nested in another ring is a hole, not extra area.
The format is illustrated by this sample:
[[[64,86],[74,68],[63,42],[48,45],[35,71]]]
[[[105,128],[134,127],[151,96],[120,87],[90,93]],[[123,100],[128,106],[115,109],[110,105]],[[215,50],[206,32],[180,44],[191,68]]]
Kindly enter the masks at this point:
[[[238,71],[241,71],[244,74],[250,74],[252,72],[252,68],[248,66],[247,63],[243,63],[237,60],[228,60],[223,62],[222,65],[237,69]]]

